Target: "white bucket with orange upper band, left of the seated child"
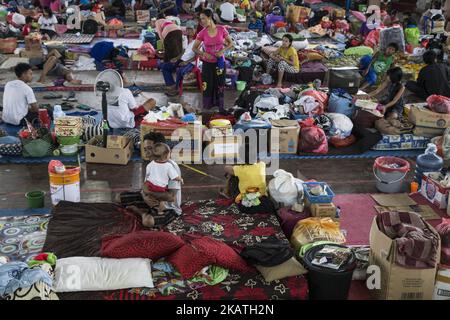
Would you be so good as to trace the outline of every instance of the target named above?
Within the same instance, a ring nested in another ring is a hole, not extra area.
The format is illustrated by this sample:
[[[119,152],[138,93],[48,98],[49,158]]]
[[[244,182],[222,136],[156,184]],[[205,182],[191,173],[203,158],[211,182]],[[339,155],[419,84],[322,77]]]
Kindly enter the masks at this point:
[[[80,168],[68,167],[64,173],[49,172],[52,204],[80,202]]]

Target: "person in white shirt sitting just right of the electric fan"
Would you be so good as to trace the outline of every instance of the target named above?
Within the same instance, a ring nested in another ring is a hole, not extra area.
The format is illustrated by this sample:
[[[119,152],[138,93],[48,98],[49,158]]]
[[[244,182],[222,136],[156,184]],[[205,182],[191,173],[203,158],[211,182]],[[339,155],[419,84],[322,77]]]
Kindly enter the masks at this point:
[[[154,99],[139,106],[130,89],[122,89],[117,103],[108,106],[108,123],[113,129],[132,129],[140,125],[144,116],[156,106]]]

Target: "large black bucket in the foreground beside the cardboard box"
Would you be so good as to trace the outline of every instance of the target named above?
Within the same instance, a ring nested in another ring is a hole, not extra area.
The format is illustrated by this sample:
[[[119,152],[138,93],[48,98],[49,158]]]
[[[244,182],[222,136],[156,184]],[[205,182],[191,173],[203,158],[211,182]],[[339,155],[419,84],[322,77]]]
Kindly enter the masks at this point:
[[[308,269],[306,278],[308,280],[309,299],[347,300],[353,271],[356,268],[356,257],[352,252],[347,263],[337,270],[312,264],[314,255],[325,246],[346,248],[346,246],[338,244],[322,244],[306,251],[303,257],[303,264]]]

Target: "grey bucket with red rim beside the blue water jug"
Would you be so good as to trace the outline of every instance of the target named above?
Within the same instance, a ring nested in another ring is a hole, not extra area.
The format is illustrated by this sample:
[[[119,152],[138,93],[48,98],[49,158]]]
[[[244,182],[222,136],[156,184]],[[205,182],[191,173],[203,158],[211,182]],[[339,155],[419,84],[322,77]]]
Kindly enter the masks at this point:
[[[410,169],[409,162],[396,157],[375,159],[373,174],[377,179],[376,187],[383,193],[399,193]]]

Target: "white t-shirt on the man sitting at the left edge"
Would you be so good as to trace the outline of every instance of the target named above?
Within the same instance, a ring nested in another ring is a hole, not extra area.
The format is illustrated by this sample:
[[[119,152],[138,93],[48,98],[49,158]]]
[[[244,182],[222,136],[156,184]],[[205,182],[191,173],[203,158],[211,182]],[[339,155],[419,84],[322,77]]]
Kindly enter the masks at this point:
[[[36,103],[33,89],[22,80],[9,81],[3,93],[4,122],[18,125],[27,115],[29,105]]]

